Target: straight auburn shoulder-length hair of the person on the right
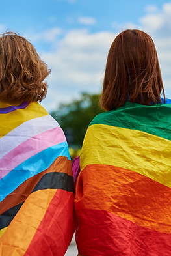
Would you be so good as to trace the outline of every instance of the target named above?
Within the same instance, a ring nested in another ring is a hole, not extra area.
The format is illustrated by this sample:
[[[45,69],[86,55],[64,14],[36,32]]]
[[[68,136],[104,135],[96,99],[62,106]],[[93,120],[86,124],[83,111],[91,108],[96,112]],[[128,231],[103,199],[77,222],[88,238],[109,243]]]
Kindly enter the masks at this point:
[[[149,105],[165,100],[163,81],[155,44],[137,29],[127,29],[112,42],[103,80],[101,107],[123,106],[127,100]]]

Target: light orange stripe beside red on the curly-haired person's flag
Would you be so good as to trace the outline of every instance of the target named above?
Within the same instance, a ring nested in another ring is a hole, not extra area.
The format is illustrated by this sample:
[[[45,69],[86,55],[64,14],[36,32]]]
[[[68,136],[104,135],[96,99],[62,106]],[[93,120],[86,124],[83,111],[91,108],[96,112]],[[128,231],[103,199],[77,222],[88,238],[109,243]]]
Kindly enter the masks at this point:
[[[0,240],[0,255],[24,255],[57,190],[31,193]],[[15,248],[18,248],[17,250]]]

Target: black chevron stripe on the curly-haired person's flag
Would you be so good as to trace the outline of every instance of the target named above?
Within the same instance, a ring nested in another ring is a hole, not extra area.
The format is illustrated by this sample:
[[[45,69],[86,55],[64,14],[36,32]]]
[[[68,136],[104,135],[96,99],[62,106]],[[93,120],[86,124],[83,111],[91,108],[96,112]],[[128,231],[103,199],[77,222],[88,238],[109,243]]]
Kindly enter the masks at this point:
[[[74,192],[73,177],[67,173],[46,173],[34,187],[33,192],[38,190],[46,190],[48,188],[61,189],[68,192]],[[10,208],[0,215],[0,230],[10,225],[10,222],[20,210],[24,202]]]

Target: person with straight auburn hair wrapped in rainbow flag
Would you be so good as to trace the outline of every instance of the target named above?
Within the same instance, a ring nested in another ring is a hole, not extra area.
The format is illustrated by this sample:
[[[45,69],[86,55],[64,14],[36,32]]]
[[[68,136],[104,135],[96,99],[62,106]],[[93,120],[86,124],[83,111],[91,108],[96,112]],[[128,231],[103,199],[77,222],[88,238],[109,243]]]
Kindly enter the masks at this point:
[[[143,31],[127,29],[112,42],[101,107],[75,187],[79,255],[170,256],[171,100]]]

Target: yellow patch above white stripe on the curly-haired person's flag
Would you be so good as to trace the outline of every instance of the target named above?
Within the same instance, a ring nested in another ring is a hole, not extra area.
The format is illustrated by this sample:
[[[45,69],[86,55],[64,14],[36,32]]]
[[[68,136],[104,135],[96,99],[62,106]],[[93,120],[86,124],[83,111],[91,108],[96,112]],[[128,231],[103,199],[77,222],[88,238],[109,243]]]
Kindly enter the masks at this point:
[[[26,109],[24,110],[17,109],[11,113],[1,114],[0,137],[3,137],[4,135],[8,134],[8,132],[18,127],[23,122],[29,121],[36,117],[43,117],[47,114],[47,111],[44,109],[44,107],[38,104],[38,102],[33,102],[29,104],[29,106],[26,107]]]

